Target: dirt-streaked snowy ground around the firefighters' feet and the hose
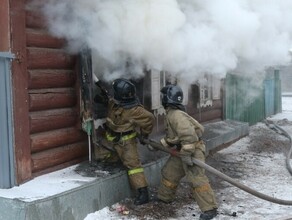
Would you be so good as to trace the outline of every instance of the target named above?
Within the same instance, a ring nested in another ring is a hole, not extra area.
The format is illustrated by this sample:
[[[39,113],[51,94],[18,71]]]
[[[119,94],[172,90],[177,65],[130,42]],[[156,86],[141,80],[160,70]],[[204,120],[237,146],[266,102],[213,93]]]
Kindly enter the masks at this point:
[[[292,97],[282,98],[282,113],[269,118],[292,135]],[[292,200],[292,176],[285,166],[289,151],[288,139],[264,123],[250,127],[250,135],[214,155],[211,165],[233,177],[240,183],[268,196]],[[210,177],[219,205],[219,215],[214,220],[287,220],[292,219],[292,207],[265,201],[250,195],[217,177]],[[123,204],[117,203],[87,215],[85,220],[130,219],[151,220],[153,218],[124,213]],[[131,210],[130,210],[131,212]],[[198,219],[200,210],[195,202],[178,207],[176,215],[167,220]],[[155,219],[155,218],[154,218]]]

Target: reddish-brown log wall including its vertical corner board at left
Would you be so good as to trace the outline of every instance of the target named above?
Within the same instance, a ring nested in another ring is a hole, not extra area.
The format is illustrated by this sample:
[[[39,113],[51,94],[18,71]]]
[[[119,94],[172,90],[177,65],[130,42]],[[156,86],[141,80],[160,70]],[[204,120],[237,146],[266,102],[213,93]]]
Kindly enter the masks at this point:
[[[80,130],[76,57],[46,31],[42,16],[11,1],[15,157],[18,184],[78,163],[88,154]]]

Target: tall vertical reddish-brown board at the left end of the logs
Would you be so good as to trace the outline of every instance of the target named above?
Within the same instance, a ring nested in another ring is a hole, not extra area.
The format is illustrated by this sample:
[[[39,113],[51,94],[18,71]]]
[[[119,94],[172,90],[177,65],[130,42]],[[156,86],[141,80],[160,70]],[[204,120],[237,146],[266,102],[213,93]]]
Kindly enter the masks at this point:
[[[11,19],[14,149],[17,184],[31,178],[31,155],[28,118],[28,73],[25,37],[25,4],[9,1]]]

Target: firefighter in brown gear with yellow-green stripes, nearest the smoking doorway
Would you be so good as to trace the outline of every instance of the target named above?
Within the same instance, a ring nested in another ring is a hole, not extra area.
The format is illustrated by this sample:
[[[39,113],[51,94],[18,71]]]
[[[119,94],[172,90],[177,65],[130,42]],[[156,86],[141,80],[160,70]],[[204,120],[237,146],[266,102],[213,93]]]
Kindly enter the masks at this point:
[[[116,79],[112,84],[114,97],[108,102],[106,139],[112,143],[123,165],[127,168],[132,188],[137,190],[135,205],[149,201],[147,181],[138,155],[137,138],[148,138],[154,125],[154,115],[147,111],[136,96],[136,87],[127,79]],[[142,144],[144,144],[142,142]]]

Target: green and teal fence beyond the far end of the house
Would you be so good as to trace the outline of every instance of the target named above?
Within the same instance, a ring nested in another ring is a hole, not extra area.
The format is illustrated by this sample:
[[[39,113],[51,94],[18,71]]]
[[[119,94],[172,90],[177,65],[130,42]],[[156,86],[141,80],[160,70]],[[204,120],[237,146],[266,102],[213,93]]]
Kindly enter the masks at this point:
[[[249,125],[281,112],[279,71],[268,73],[263,82],[227,74],[224,99],[225,118],[248,122]]]

